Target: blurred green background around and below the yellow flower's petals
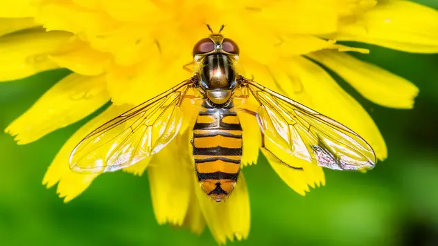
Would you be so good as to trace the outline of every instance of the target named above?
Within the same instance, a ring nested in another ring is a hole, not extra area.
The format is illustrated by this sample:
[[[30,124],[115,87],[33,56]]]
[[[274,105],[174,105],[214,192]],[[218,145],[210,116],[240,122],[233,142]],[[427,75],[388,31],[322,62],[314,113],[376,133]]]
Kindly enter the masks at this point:
[[[438,1],[418,1],[438,8]],[[376,46],[355,54],[420,88],[413,110],[383,108],[340,84],[378,125],[389,157],[367,174],[325,171],[326,186],[302,197],[265,162],[244,169],[251,232],[233,245],[438,245],[438,55]],[[0,129],[24,113],[67,70],[0,83]],[[100,176],[64,204],[42,177],[81,122],[17,146],[0,133],[0,245],[216,245],[201,236],[157,225],[147,176]],[[266,183],[270,185],[266,185]]]

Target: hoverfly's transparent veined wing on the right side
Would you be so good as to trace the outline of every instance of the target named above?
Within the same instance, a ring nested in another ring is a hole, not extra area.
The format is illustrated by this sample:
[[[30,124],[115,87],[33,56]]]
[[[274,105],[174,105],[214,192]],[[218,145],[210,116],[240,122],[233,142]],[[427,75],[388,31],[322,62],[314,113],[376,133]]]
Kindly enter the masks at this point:
[[[329,169],[374,167],[371,146],[346,126],[249,79],[243,86],[261,104],[256,117],[275,149]]]

